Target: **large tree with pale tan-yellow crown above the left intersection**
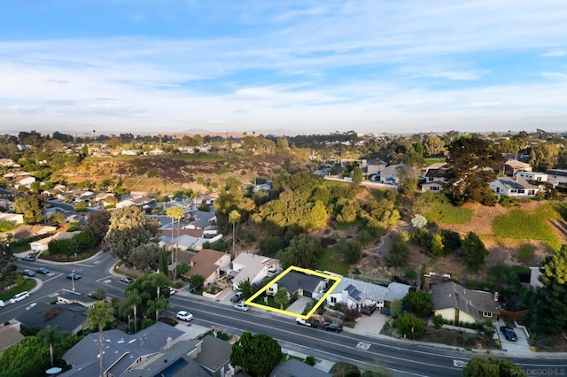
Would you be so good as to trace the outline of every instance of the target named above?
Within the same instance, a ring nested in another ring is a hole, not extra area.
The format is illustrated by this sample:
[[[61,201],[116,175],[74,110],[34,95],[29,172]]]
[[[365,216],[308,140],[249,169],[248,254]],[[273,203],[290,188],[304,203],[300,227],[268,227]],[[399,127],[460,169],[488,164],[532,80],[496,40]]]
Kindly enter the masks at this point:
[[[113,212],[105,241],[111,245],[113,256],[128,264],[128,253],[156,235],[159,221],[146,218],[140,208],[132,205]]]

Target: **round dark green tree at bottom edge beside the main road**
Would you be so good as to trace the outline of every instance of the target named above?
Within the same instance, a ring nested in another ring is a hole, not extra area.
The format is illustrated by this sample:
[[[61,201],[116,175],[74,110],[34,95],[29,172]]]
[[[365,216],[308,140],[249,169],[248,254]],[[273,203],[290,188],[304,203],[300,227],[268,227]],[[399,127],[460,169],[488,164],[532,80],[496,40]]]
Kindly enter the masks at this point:
[[[282,359],[278,342],[265,334],[244,332],[232,345],[230,364],[241,366],[246,373],[256,377],[268,377]]]

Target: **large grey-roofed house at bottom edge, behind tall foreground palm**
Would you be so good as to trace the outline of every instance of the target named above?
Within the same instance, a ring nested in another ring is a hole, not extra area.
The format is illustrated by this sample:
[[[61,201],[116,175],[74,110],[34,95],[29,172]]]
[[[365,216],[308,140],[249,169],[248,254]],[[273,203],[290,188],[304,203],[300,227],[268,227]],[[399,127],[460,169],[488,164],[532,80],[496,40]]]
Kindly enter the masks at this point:
[[[117,329],[106,330],[103,335],[105,377],[128,375],[128,372],[159,356],[160,352],[170,348],[175,342],[185,340],[183,335],[182,330],[163,322],[157,322],[132,335]],[[66,351],[63,359],[73,368],[60,374],[61,377],[99,375],[98,333],[90,333],[82,338]],[[162,363],[166,364],[163,360]]]

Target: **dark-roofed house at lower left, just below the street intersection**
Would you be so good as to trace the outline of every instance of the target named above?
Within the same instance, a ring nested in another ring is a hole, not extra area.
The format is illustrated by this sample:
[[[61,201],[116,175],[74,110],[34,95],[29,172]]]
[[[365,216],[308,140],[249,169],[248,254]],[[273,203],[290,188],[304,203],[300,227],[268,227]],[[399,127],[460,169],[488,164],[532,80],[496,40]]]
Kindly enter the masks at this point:
[[[35,304],[35,305],[34,305]],[[87,308],[81,304],[45,304],[38,301],[29,305],[25,312],[20,312],[16,319],[39,331],[45,327],[58,327],[77,335],[81,330],[89,328],[87,325]]]

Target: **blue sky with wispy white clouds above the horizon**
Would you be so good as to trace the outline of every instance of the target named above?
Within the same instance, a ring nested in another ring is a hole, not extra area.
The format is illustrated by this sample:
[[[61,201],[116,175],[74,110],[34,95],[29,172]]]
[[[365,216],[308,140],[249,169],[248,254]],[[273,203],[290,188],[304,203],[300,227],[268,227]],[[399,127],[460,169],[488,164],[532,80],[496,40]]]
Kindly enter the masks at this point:
[[[565,0],[2,0],[0,132],[567,130]]]

